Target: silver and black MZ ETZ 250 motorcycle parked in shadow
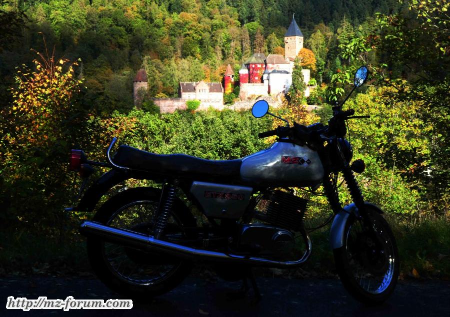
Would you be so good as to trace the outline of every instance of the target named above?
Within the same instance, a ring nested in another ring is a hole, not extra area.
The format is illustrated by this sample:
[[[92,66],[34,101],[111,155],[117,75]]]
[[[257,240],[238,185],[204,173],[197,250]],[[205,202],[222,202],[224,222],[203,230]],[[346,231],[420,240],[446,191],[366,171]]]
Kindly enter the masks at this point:
[[[366,78],[367,68],[362,66],[351,92]],[[342,110],[348,96],[332,108],[328,125],[290,126],[268,112],[266,101],[257,101],[251,109],[254,117],[269,114],[285,125],[259,133],[259,138],[276,136],[276,141],[242,159],[158,155],[127,145],[120,145],[112,156],[116,138],[107,149],[107,163],[72,150],[70,169],[85,179],[92,166],[110,170],[68,210],[92,212],[109,189],[127,179],[160,185],[124,189],[81,224],[94,273],[117,293],[148,298],[175,288],[195,262],[204,261],[219,277],[243,280],[244,291],[248,278],[259,297],[251,268],[296,268],[311,254],[304,226],[308,200],[295,196],[291,188],[314,193],[322,185],[333,211],[329,240],[344,288],[365,304],[385,301],[398,278],[397,247],[383,212],[364,201],[354,177],[365,166],[362,160],[350,164],[346,120],[367,116]],[[353,200],[346,206],[338,199],[338,173]],[[202,225],[197,225],[195,212]],[[304,245],[300,255],[299,244]]]

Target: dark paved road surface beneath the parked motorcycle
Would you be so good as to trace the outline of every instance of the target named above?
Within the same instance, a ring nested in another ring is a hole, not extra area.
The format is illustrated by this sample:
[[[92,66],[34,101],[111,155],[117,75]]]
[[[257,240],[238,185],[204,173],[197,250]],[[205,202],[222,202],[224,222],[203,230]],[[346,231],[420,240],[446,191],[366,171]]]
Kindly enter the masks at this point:
[[[258,278],[263,296],[258,304],[252,297],[228,300],[225,294],[239,283],[205,282],[187,278],[182,285],[148,303],[133,303],[127,310],[43,310],[5,311],[8,296],[37,299],[116,299],[99,281],[92,278],[52,278],[35,276],[0,278],[0,316],[450,316],[450,282],[399,282],[393,296],[382,306],[366,308],[350,298],[338,280],[285,280]],[[106,315],[105,314],[105,315]]]

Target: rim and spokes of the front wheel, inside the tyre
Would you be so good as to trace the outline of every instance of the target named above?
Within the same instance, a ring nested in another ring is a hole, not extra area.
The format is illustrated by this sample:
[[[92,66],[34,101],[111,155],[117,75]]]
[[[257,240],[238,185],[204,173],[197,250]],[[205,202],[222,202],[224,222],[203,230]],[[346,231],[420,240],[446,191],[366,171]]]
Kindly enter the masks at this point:
[[[368,214],[365,224],[355,220],[346,235],[346,258],[356,284],[369,294],[384,292],[392,282],[394,246],[378,214]]]

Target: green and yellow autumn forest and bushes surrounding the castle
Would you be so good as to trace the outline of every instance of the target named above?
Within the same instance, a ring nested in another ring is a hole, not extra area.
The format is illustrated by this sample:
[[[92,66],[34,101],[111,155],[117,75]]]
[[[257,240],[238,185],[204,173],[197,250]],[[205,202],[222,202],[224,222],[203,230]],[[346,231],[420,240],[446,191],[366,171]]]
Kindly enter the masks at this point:
[[[354,158],[367,166],[358,181],[365,199],[391,220],[404,272],[448,276],[449,6],[440,0],[0,0],[0,250],[7,250],[0,253],[0,273],[48,267],[55,252],[61,263],[75,261],[61,245],[76,245],[79,221],[92,215],[62,211],[76,203],[81,187],[68,171],[71,148],[104,161],[113,136],[155,153],[207,159],[267,147],[257,133],[280,122],[226,109],[160,114],[149,98],[176,96],[180,81],[221,82],[227,64],[238,78],[254,52],[283,54],[294,16],[304,35],[295,67],[310,69],[317,88],[304,98],[304,87],[294,84],[273,111],[302,124],[326,123],[331,105],[351,90],[354,71],[367,65],[367,84],[345,106],[370,115],[348,123]],[[148,90],[136,109],[132,80],[140,68]],[[226,103],[237,95],[238,85]],[[318,110],[306,111],[305,103]],[[326,201],[308,199],[311,219],[326,217]],[[349,200],[342,190],[341,201]],[[31,254],[30,237],[49,251]],[[17,254],[13,246],[29,252]]]

